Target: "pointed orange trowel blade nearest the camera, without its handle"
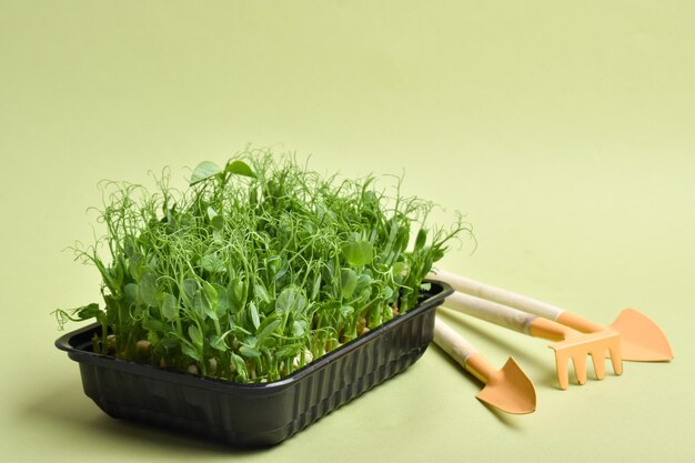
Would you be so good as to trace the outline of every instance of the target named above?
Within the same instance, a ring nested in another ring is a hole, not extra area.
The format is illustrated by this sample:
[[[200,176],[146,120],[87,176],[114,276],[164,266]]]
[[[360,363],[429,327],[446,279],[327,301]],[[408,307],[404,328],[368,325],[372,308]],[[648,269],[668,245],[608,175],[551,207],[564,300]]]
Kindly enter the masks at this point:
[[[490,376],[485,387],[475,396],[506,413],[524,414],[536,410],[536,390],[533,382],[512,358],[502,370]]]

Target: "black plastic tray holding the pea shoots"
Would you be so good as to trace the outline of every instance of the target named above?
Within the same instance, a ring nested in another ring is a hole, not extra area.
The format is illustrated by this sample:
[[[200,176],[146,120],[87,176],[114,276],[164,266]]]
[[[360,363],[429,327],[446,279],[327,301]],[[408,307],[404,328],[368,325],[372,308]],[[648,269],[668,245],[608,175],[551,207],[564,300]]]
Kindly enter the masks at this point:
[[[420,359],[433,338],[435,308],[453,292],[430,283],[416,308],[270,383],[232,383],[93,353],[100,324],[66,334],[56,346],[80,364],[84,393],[110,416],[232,445],[271,445]]]

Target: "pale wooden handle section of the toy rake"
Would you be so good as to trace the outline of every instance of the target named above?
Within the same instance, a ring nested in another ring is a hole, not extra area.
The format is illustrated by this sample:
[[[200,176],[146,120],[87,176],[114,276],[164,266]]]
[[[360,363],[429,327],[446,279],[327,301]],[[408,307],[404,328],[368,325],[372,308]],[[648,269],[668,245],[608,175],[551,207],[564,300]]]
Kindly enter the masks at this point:
[[[531,334],[528,326],[537,319],[531,313],[460,292],[446,298],[443,305],[524,334]]]

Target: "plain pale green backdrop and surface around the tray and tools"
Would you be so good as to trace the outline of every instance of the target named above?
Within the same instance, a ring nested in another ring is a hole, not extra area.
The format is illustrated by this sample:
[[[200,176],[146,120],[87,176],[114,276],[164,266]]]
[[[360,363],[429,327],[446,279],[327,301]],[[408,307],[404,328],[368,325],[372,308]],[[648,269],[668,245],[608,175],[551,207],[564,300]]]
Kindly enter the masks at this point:
[[[692,1],[0,0],[0,460],[695,461],[693,23]],[[563,392],[544,341],[449,316],[514,355],[534,414],[483,406],[432,346],[265,451],[105,416],[49,315],[98,300],[64,250],[91,241],[97,182],[183,181],[246,143],[404,174],[475,228],[442,268],[601,323],[638,308],[675,360]]]

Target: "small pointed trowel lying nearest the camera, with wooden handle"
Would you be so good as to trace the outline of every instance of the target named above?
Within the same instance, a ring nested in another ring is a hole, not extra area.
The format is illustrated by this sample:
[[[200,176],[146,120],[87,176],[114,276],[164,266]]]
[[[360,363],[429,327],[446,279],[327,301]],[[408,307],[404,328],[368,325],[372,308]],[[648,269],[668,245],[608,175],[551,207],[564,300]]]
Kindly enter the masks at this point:
[[[444,323],[434,319],[434,343],[473,374],[485,387],[475,396],[506,413],[531,413],[536,410],[536,390],[514,359],[495,370],[477,350]]]

